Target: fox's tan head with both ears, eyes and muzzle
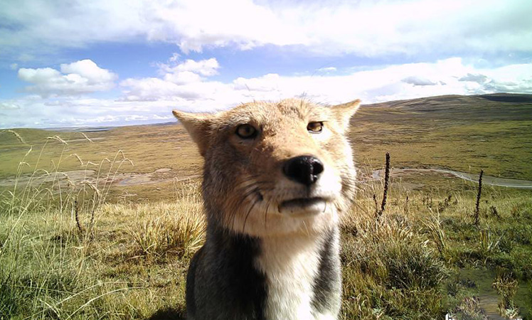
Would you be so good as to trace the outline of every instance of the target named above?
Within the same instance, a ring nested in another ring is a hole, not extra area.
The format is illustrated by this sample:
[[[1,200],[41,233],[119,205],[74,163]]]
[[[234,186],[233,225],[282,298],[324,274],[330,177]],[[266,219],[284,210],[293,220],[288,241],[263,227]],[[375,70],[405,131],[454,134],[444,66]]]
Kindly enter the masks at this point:
[[[174,110],[205,159],[208,222],[254,236],[338,223],[356,171],[345,132],[360,100],[250,102],[216,114]]]

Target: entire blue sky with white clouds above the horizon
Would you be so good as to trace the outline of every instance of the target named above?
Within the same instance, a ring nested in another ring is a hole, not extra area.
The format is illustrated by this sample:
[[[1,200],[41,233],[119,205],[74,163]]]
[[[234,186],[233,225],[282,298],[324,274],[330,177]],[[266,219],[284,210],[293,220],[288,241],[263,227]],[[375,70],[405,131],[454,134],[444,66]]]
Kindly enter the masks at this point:
[[[532,1],[3,0],[0,128],[532,93]]]

